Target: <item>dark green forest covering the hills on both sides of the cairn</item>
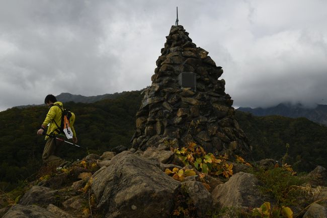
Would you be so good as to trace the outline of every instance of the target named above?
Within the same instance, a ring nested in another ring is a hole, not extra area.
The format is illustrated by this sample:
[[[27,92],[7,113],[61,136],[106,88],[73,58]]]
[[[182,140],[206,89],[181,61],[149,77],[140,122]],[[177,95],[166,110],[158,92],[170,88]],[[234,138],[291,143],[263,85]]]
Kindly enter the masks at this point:
[[[101,155],[124,145],[130,147],[135,130],[135,114],[143,96],[141,91],[124,92],[115,99],[95,103],[64,103],[74,112],[80,149],[70,144],[61,148],[61,157],[76,161],[88,154]],[[33,179],[42,166],[44,137],[37,136],[47,106],[12,108],[0,112],[0,189],[11,190],[26,179]],[[327,168],[327,127],[305,118],[281,116],[256,117],[236,112],[240,127],[253,147],[255,161],[265,158],[280,160],[288,153],[288,163],[300,171],[316,165]],[[286,150],[286,144],[290,147]]]

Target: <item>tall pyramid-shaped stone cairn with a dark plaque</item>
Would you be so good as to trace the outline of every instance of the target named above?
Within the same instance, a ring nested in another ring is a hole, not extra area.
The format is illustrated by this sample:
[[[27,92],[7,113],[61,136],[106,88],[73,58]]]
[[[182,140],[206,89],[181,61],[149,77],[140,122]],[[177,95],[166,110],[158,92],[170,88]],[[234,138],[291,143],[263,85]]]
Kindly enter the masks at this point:
[[[195,142],[206,152],[247,156],[248,140],[235,120],[233,100],[225,93],[225,81],[218,80],[223,70],[188,35],[178,25],[166,37],[136,113],[133,148],[162,143],[182,148]],[[194,77],[193,87],[185,87],[183,75],[188,82]]]

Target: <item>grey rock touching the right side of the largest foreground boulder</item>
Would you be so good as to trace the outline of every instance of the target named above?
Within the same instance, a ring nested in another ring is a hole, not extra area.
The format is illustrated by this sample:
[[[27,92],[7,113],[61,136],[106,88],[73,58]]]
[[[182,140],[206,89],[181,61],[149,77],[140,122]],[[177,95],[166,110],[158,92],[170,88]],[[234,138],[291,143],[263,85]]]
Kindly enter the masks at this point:
[[[198,181],[182,182],[183,186],[196,207],[198,217],[206,217],[206,212],[212,208],[210,192]]]

